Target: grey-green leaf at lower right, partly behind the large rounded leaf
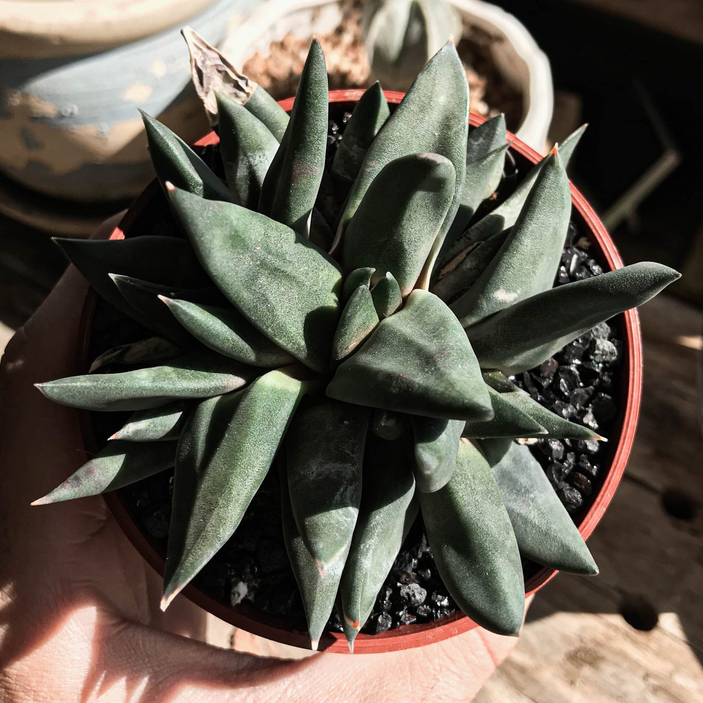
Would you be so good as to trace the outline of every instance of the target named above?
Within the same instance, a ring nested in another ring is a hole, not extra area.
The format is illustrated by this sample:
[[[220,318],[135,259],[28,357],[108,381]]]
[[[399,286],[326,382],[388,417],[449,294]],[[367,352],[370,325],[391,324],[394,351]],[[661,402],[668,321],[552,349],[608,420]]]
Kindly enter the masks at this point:
[[[503,453],[503,444],[503,440],[481,442],[522,555],[560,571],[598,574],[586,542],[531,451],[511,441]]]

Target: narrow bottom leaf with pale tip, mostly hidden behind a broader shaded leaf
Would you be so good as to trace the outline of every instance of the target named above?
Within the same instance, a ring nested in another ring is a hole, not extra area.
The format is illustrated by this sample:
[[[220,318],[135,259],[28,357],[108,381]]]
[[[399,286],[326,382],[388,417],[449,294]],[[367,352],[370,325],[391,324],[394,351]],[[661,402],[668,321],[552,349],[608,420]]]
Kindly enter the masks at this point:
[[[283,540],[288,559],[298,584],[305,610],[310,648],[316,650],[325,631],[330,614],[337,600],[337,589],[342,578],[342,569],[347,560],[347,551],[332,564],[328,564],[322,576],[315,565],[313,557],[305,546],[302,536],[295,524],[295,517],[290,505],[288,475],[285,461],[278,461],[280,479],[281,522],[283,523]]]

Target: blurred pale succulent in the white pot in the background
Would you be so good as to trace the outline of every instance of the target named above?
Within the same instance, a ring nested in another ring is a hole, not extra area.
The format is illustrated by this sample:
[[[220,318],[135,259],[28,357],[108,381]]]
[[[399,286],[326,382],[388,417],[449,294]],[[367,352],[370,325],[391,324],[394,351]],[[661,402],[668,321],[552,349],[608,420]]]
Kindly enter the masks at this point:
[[[367,0],[361,30],[373,78],[406,91],[446,41],[461,38],[463,27],[444,0]]]

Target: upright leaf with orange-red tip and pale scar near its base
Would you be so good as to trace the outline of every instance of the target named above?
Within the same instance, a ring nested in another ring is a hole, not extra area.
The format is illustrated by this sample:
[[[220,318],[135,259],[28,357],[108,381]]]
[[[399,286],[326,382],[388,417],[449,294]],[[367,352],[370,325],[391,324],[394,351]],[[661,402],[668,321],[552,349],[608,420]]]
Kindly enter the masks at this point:
[[[501,250],[476,283],[451,304],[465,327],[552,287],[571,207],[569,179],[559,155],[553,152]]]

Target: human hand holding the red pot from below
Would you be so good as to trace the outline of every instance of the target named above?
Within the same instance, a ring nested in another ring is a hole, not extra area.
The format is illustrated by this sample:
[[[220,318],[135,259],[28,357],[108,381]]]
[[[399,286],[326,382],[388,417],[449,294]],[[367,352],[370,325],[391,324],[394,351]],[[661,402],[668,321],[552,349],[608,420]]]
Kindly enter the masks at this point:
[[[115,221],[105,223],[106,236]],[[0,370],[0,699],[7,703],[470,700],[516,638],[476,628],[389,654],[299,662],[211,647],[205,613],[161,582],[103,498],[30,507],[84,460],[78,413],[33,384],[78,373],[87,285],[72,267]],[[342,692],[342,693],[340,693]]]

